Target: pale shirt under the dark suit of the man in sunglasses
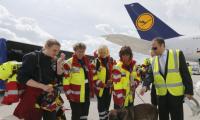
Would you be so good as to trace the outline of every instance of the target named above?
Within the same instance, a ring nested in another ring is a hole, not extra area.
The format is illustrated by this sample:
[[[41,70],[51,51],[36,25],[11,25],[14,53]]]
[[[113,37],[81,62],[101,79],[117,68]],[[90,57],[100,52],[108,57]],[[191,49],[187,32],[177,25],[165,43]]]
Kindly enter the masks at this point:
[[[167,50],[165,50],[162,55],[158,56],[159,58],[159,63],[160,63],[160,70],[162,72],[162,74],[165,74],[165,65],[166,65],[166,61],[167,61]]]

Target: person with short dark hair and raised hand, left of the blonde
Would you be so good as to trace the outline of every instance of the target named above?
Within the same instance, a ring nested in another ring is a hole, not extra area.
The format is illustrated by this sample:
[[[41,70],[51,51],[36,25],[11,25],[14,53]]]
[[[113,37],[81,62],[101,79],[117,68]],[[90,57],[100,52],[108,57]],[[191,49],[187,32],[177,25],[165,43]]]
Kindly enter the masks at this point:
[[[85,56],[86,45],[76,43],[73,56],[64,62],[63,88],[72,109],[72,120],[87,120],[90,96],[93,97],[93,73]]]

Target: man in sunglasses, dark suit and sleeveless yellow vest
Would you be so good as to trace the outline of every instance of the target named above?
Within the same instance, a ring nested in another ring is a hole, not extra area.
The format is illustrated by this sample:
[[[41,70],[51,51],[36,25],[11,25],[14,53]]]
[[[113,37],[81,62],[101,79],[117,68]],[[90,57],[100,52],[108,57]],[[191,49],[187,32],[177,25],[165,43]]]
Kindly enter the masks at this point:
[[[143,83],[143,94],[150,83],[154,83],[158,97],[160,120],[183,120],[183,98],[193,96],[193,83],[187,69],[182,51],[165,48],[162,38],[152,41],[155,56],[151,62],[151,71]],[[169,118],[170,114],[170,118]]]

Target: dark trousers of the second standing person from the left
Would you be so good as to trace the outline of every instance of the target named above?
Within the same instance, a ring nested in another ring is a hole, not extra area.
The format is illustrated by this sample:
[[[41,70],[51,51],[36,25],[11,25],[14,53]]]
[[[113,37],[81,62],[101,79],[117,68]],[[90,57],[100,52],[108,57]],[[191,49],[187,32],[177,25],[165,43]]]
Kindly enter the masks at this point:
[[[87,120],[90,102],[76,103],[70,101],[70,107],[72,109],[71,120]]]

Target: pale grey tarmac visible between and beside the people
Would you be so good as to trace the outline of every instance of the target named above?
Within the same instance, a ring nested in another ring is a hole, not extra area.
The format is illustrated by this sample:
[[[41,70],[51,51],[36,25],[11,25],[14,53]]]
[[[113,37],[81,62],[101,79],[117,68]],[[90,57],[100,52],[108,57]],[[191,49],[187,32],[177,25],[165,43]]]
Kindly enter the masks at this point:
[[[194,88],[197,89],[196,88],[197,85],[200,85],[200,76],[192,75],[192,79],[193,79],[193,84],[195,86]],[[198,82],[199,84],[197,84]],[[137,104],[142,104],[142,103],[150,103],[150,93],[147,92],[145,95],[140,96],[139,95],[140,88],[141,86],[137,88],[134,104],[137,105]],[[198,90],[197,92],[200,94],[200,89],[197,89],[197,90]],[[200,102],[200,97],[197,94],[195,94],[194,97]],[[62,94],[62,98],[65,101],[64,103],[65,108],[70,109],[69,102],[66,99],[64,94]],[[12,105],[0,105],[0,120],[18,120],[16,117],[12,115],[17,104],[18,103],[15,103]],[[111,105],[110,105],[110,110],[111,109],[113,109],[113,101],[111,102]],[[198,109],[200,110],[200,107]],[[71,110],[65,111],[65,115],[67,117],[67,120],[70,120]],[[188,105],[184,103],[184,119],[185,120],[200,120],[200,114],[194,116],[191,109],[188,107]],[[91,100],[88,120],[99,120],[96,99]]]

